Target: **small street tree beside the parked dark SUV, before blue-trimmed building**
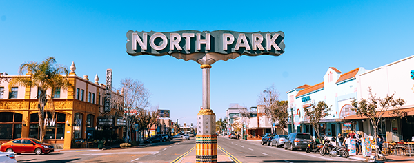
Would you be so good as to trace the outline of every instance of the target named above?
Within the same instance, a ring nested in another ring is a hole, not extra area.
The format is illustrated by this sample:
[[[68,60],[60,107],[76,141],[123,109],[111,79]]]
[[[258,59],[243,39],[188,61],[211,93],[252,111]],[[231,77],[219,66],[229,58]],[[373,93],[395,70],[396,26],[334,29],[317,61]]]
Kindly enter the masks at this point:
[[[316,104],[312,104],[311,108],[304,108],[305,114],[309,117],[309,122],[312,124],[313,128],[315,129],[317,138],[319,142],[321,142],[321,137],[319,133],[319,122],[324,119],[324,117],[329,115],[329,111],[331,111],[332,106],[328,106],[325,102],[318,102]]]

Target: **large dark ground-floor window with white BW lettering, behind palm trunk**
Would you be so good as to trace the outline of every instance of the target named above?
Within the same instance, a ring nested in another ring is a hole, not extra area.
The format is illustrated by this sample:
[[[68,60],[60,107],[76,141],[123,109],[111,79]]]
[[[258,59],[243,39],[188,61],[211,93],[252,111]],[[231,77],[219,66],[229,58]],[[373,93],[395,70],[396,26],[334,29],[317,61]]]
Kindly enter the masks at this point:
[[[61,139],[65,137],[65,123],[66,115],[64,113],[56,113],[52,115],[52,112],[45,112],[44,123],[46,125],[45,139]],[[33,113],[30,115],[29,137],[39,139],[39,115]]]

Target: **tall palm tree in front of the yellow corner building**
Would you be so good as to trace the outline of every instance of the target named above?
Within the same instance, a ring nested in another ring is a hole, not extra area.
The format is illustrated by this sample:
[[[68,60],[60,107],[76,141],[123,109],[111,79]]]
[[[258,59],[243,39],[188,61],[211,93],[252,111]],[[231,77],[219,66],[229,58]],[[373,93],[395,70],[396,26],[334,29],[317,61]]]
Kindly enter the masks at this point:
[[[26,71],[28,73],[26,73]],[[60,65],[56,65],[56,60],[54,57],[47,57],[44,61],[38,63],[37,61],[28,61],[23,63],[19,67],[19,77],[13,78],[9,84],[9,90],[14,85],[25,86],[26,88],[37,87],[38,88],[38,102],[40,104],[39,112],[39,128],[40,128],[40,141],[43,141],[43,137],[46,133],[46,126],[43,124],[45,117],[44,108],[48,99],[50,104],[52,102],[52,95],[55,93],[56,88],[68,88],[72,84],[68,81],[68,69]],[[23,74],[30,75],[30,77],[23,76]],[[66,77],[63,77],[61,74],[66,74]],[[52,95],[47,95],[47,90],[51,90]]]

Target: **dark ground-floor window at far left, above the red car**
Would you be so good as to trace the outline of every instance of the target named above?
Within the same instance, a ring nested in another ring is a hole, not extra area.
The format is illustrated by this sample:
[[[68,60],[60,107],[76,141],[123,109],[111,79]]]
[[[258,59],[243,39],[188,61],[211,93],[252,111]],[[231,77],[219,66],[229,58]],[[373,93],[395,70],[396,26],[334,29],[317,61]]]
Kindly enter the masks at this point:
[[[21,122],[23,116],[19,113],[0,113],[0,139],[12,140],[21,138]]]

